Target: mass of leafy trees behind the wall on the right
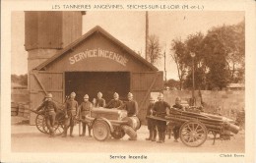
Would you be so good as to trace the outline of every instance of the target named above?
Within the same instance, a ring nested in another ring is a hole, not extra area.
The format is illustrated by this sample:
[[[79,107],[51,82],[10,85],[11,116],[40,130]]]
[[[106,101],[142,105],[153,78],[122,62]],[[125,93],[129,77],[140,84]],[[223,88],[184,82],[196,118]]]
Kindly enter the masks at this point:
[[[213,27],[204,36],[188,35],[184,41],[174,39],[170,55],[176,63],[180,88],[223,89],[230,82],[244,82],[244,21],[234,26]]]

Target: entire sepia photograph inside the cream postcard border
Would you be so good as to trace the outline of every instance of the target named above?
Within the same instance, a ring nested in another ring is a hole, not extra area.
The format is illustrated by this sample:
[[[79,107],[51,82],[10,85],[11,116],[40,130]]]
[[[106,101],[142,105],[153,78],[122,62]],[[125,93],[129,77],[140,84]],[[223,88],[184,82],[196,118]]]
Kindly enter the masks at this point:
[[[244,152],[244,12],[12,14],[13,151]]]

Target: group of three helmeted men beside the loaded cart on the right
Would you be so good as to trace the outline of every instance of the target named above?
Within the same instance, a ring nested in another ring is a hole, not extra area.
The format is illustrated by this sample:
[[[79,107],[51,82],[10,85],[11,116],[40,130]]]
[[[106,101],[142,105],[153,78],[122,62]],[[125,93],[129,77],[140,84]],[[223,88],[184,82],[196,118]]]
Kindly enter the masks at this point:
[[[169,114],[169,110],[171,109],[170,105],[163,101],[163,94],[160,93],[158,96],[157,102],[155,102],[154,98],[150,98],[150,104],[147,110],[147,117],[148,116],[156,116],[160,118],[164,118],[166,115]],[[178,110],[184,110],[182,107],[181,99],[180,97],[177,97],[175,99],[175,104],[172,106],[173,109],[178,109]],[[165,140],[165,132],[166,132],[166,122],[165,121],[160,121],[160,120],[155,120],[151,118],[147,118],[148,120],[148,130],[150,132],[150,136],[146,138],[146,140],[152,140],[156,141],[157,137],[157,131],[159,133],[159,140],[157,141],[158,143],[162,143]],[[173,135],[174,135],[174,141],[178,142],[179,138],[179,127],[174,126],[173,128]]]

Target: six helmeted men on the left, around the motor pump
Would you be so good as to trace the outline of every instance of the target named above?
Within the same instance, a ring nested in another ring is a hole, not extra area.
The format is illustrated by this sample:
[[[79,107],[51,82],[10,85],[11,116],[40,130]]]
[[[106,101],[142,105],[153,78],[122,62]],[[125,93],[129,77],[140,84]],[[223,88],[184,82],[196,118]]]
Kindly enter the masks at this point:
[[[68,129],[70,129],[70,136],[73,137],[73,129],[75,126],[75,120],[81,119],[83,124],[83,132],[80,136],[86,136],[86,128],[88,126],[89,136],[91,135],[91,127],[89,123],[86,121],[86,115],[90,114],[90,111],[93,107],[103,107],[103,108],[115,108],[127,111],[127,116],[132,117],[138,114],[138,103],[133,99],[133,94],[131,92],[128,93],[127,98],[128,101],[123,102],[119,99],[119,94],[114,93],[113,99],[111,99],[107,104],[105,100],[102,98],[102,93],[97,93],[97,98],[93,100],[93,103],[89,101],[89,95],[86,94],[84,96],[84,101],[79,105],[75,100],[76,93],[72,92],[70,94],[70,98],[65,102],[64,107],[64,115],[65,115],[65,123],[64,123],[64,133],[63,137],[67,136]],[[47,128],[49,129],[49,134],[51,137],[55,136],[54,132],[54,123],[55,116],[57,112],[56,104],[52,101],[52,94],[48,93],[45,96],[43,103],[36,109],[36,111],[40,111],[44,109],[44,117],[46,121]]]

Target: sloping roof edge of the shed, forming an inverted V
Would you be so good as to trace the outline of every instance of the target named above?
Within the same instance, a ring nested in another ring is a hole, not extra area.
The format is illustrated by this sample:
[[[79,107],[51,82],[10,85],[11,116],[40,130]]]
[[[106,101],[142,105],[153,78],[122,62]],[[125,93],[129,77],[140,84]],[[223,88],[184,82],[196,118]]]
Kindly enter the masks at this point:
[[[94,28],[92,28],[90,31],[88,31],[87,33],[85,33],[84,35],[82,35],[80,38],[78,38],[77,40],[75,40],[74,42],[72,42],[71,44],[69,44],[68,46],[66,46],[64,49],[60,50],[58,53],[56,53],[55,55],[53,55],[51,58],[49,58],[48,60],[46,60],[45,62],[43,62],[42,64],[40,64],[39,66],[37,66],[35,68],[35,70],[42,70],[44,67],[46,67],[47,65],[49,65],[50,63],[54,62],[56,59],[58,59],[59,57],[61,57],[62,55],[64,55],[65,53],[67,53],[69,50],[72,50],[74,47],[76,47],[80,42],[84,41],[85,39],[87,39],[89,36],[91,36],[92,34],[94,34],[95,32],[100,32],[101,34],[103,34],[104,36],[106,36],[108,39],[110,39],[111,41],[113,41],[114,43],[116,43],[118,46],[122,47],[122,49],[124,49],[127,53],[131,54],[133,57],[135,57],[136,59],[138,59],[140,62],[142,62],[144,65],[148,66],[149,68],[151,68],[153,71],[158,71],[158,68],[156,68],[153,64],[149,63],[147,60],[145,60],[143,57],[141,57],[139,54],[137,54],[136,52],[134,52],[132,49],[130,49],[128,46],[126,46],[125,44],[123,44],[121,41],[119,41],[118,39],[116,39],[115,37],[113,37],[110,33],[108,33],[107,31],[105,31],[102,27],[96,26]]]

